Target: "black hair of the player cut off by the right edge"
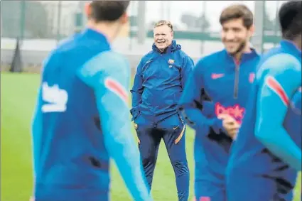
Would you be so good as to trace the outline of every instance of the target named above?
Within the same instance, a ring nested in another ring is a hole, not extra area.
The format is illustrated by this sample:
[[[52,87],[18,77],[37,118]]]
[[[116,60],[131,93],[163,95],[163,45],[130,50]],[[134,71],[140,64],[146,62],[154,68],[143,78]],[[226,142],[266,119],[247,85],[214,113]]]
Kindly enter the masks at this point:
[[[288,1],[282,4],[279,10],[279,23],[282,36],[288,40],[293,40],[296,36],[301,34],[301,6],[301,1]]]

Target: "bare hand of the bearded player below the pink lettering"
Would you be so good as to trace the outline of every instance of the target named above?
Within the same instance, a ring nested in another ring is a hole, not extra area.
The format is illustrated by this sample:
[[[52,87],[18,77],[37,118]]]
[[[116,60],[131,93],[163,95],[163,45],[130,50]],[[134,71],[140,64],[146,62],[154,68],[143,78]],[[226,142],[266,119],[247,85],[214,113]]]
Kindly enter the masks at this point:
[[[225,129],[225,131],[227,131],[227,135],[234,140],[237,137],[237,133],[240,128],[240,125],[229,114],[220,114],[217,117],[218,119],[222,119],[222,126]]]

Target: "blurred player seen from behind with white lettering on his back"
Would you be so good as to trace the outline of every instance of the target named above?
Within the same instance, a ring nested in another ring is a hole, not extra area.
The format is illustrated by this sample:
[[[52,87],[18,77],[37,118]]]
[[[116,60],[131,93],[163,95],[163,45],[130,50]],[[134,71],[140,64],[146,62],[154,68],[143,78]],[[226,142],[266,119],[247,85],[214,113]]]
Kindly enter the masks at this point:
[[[36,201],[109,200],[110,158],[134,200],[151,200],[131,134],[129,65],[110,48],[128,5],[87,3],[87,29],[44,63],[33,121]]]

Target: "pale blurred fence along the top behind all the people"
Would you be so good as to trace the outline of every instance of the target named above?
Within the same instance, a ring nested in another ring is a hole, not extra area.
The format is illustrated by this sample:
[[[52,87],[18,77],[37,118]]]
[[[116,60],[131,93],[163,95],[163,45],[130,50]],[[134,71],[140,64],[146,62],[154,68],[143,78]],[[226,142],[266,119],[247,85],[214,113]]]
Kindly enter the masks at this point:
[[[145,1],[144,18],[139,16],[139,1],[131,1],[129,16],[133,30],[144,20],[146,30],[153,23],[168,19],[175,31],[213,33],[220,31],[219,16],[225,6],[236,1]],[[255,15],[254,1],[237,1],[246,4]],[[82,28],[82,11],[85,1],[1,1],[1,37],[60,39],[77,28]],[[279,31],[276,11],[281,1],[265,1],[265,31],[273,35]]]

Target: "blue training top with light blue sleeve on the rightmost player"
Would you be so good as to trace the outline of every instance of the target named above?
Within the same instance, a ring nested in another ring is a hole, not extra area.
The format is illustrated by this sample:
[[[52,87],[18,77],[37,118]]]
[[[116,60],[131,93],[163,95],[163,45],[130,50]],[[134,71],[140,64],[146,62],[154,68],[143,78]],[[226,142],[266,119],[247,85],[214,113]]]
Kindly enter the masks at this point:
[[[273,48],[261,59],[247,114],[232,146],[228,170],[289,177],[286,179],[295,183],[292,168],[301,170],[301,114],[293,115],[297,108],[289,106],[291,100],[293,105],[298,103],[299,87],[301,50],[282,40],[280,47]]]

